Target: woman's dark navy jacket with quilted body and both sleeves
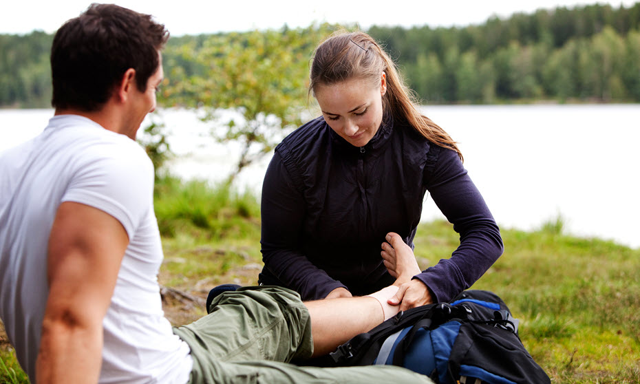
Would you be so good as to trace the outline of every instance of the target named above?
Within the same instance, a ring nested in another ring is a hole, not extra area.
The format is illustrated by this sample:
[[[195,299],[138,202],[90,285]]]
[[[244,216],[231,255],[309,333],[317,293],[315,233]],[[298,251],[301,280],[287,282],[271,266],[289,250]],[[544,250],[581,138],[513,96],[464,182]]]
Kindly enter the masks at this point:
[[[262,187],[259,282],[322,299],[335,288],[367,295],[389,285],[380,255],[385,235],[409,246],[425,192],[460,233],[460,246],[416,275],[449,301],[502,254],[502,239],[482,195],[455,151],[408,125],[386,122],[365,147],[338,136],[322,117],[275,149]]]

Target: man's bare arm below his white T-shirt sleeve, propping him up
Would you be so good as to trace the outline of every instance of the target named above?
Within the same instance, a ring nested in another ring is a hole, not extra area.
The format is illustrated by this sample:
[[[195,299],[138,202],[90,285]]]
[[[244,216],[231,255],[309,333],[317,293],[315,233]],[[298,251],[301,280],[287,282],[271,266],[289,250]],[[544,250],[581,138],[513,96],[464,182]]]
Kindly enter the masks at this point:
[[[109,308],[129,237],[99,209],[63,202],[47,250],[49,297],[37,383],[96,383]]]

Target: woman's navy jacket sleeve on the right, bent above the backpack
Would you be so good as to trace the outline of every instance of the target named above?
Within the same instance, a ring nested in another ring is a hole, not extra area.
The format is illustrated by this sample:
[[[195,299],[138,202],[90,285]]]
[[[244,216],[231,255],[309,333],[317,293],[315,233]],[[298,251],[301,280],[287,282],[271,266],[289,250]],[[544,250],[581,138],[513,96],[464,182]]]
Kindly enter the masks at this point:
[[[427,156],[425,167],[426,187],[460,234],[460,246],[451,258],[441,259],[414,278],[423,281],[434,299],[442,302],[473,285],[502,255],[504,246],[500,229],[458,154],[435,145],[431,150],[434,153]]]

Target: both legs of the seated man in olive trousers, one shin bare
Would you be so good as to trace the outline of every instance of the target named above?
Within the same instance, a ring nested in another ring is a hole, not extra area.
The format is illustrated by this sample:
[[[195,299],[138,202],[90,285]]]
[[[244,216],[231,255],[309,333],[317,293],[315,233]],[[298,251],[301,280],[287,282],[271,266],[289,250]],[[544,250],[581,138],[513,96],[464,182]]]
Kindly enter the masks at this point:
[[[407,279],[410,277],[401,275],[398,282]],[[409,378],[416,382],[416,378],[424,376],[397,367],[319,370],[277,363],[292,359],[300,362],[310,358],[312,352],[313,356],[327,354],[356,334],[381,323],[384,319],[381,303],[397,289],[387,288],[378,292],[380,297],[377,298],[353,297],[306,303],[302,303],[295,292],[281,287],[239,288],[215,297],[209,315],[188,326],[175,328],[174,332],[191,347],[193,383],[217,382],[211,380],[230,377],[234,378],[233,382],[241,379],[260,382],[267,378],[264,382],[386,383],[405,376],[406,382]],[[397,312],[397,307],[394,310]],[[371,369],[375,371],[370,372]],[[400,372],[394,372],[396,370]],[[354,378],[343,380],[349,375]],[[258,381],[258,378],[261,379]]]

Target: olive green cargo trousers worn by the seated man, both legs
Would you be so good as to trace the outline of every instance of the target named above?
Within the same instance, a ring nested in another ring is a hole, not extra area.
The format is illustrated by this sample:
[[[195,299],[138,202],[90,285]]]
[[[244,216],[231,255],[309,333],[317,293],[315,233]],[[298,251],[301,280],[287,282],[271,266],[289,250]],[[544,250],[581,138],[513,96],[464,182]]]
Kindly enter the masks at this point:
[[[292,290],[245,287],[224,292],[211,313],[173,332],[191,348],[192,384],[432,383],[391,365],[299,367],[313,352],[309,312]]]

